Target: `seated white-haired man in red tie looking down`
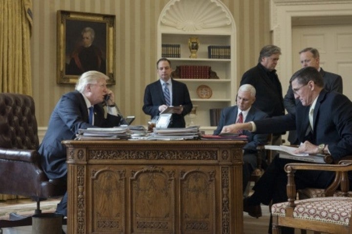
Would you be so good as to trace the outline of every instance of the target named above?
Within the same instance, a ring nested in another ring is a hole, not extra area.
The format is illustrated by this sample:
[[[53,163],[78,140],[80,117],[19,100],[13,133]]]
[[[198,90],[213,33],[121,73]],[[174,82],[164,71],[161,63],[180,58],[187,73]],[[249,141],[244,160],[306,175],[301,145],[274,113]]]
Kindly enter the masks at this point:
[[[214,135],[219,135],[225,125],[239,122],[239,120],[249,122],[266,118],[267,115],[263,111],[252,106],[255,95],[255,87],[248,84],[241,85],[237,92],[237,106],[222,109],[219,125]],[[253,170],[257,168],[257,146],[265,145],[267,134],[255,134],[246,130],[242,134],[248,136],[248,143],[243,147],[242,190],[245,191]]]

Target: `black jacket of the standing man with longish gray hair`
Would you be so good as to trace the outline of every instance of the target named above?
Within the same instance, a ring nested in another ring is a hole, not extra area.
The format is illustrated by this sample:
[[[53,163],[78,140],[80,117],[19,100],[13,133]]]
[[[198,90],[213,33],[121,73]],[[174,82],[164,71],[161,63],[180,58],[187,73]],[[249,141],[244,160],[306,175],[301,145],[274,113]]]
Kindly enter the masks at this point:
[[[276,73],[270,78],[268,70],[260,63],[246,71],[241,85],[250,84],[256,88],[256,101],[252,106],[264,111],[269,117],[285,114],[282,87]]]

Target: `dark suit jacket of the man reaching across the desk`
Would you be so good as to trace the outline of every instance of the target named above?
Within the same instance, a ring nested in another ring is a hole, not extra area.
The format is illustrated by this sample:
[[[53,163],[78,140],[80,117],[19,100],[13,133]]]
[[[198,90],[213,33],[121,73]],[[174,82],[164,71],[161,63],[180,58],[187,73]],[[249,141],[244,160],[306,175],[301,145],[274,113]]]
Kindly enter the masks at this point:
[[[255,121],[257,133],[297,130],[298,140],[309,140],[314,145],[328,144],[335,161],[352,154],[352,102],[343,94],[322,90],[313,116],[313,133],[309,134],[309,106],[296,106],[296,113],[288,113],[266,120]]]

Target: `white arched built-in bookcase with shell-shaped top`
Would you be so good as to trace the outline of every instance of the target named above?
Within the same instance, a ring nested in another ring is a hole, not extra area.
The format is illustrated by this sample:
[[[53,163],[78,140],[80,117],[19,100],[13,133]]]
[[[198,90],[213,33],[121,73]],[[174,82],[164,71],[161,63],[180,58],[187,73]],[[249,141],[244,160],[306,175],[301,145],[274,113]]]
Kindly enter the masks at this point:
[[[188,39],[197,37],[199,46],[197,58],[191,59]],[[162,10],[157,26],[158,57],[161,45],[179,44],[180,58],[168,58],[173,70],[179,65],[207,65],[217,73],[219,79],[177,79],[189,89],[191,100],[197,106],[193,123],[202,130],[212,133],[210,109],[235,105],[236,79],[236,26],[230,11],[219,0],[170,0]],[[230,45],[230,59],[209,59],[209,45]],[[207,85],[212,90],[209,99],[198,97],[199,85]],[[186,124],[191,116],[186,116]]]

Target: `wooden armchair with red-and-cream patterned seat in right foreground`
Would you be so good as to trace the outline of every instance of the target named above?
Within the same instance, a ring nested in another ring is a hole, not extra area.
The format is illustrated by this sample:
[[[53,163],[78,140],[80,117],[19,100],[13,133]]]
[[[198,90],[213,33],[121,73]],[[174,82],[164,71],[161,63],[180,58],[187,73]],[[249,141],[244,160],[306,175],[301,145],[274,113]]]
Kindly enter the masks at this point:
[[[351,160],[343,160],[338,165],[290,163],[286,165],[285,170],[288,176],[288,201],[273,204],[271,207],[273,234],[279,234],[283,226],[308,229],[314,233],[352,234],[352,197],[349,197],[347,175],[347,172],[352,170]],[[295,200],[294,172],[296,170],[335,171],[335,179],[324,195]],[[338,187],[341,188],[340,194],[335,193]]]

